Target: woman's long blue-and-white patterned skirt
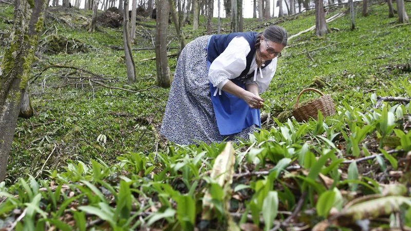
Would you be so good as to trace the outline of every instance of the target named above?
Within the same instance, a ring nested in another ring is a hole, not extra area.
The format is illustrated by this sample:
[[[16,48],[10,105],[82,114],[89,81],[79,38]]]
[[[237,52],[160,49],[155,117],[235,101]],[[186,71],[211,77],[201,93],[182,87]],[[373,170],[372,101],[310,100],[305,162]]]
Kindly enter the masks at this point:
[[[181,51],[165,107],[161,134],[177,144],[221,143],[248,140],[255,125],[230,136],[221,136],[211,102],[207,65],[209,35],[187,44]]]

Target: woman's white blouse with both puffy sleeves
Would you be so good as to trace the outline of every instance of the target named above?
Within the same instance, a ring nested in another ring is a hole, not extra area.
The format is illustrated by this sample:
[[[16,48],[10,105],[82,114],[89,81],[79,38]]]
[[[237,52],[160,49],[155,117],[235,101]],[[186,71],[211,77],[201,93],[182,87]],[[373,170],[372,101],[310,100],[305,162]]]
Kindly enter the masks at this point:
[[[221,89],[229,80],[237,78],[241,72],[246,69],[246,57],[248,53],[250,53],[250,50],[250,45],[244,37],[234,37],[226,50],[224,50],[210,66],[209,79],[213,86]],[[259,93],[264,92],[267,90],[274,76],[276,67],[277,58],[275,57],[268,67],[258,70],[254,54],[250,71],[247,73],[251,74],[255,71],[254,79],[246,81],[246,85],[255,84],[258,86]]]

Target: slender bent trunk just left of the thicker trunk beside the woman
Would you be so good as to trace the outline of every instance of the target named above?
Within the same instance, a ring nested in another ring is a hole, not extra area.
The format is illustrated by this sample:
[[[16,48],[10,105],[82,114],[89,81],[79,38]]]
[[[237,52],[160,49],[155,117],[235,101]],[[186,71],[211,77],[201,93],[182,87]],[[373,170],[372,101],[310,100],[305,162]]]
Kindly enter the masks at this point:
[[[127,69],[127,81],[128,83],[137,82],[136,64],[134,63],[131,38],[128,32],[128,0],[124,0],[124,17],[123,17],[123,44],[125,55],[125,66]],[[168,25],[168,22],[167,24]]]

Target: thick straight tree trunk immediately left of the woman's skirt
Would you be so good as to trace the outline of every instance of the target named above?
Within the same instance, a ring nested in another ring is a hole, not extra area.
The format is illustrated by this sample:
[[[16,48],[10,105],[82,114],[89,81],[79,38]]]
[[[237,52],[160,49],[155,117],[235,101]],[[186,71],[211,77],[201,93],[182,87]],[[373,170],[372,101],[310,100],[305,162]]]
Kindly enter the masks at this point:
[[[156,0],[156,67],[157,83],[160,87],[170,87],[170,68],[167,60],[167,27],[170,5],[166,0]]]

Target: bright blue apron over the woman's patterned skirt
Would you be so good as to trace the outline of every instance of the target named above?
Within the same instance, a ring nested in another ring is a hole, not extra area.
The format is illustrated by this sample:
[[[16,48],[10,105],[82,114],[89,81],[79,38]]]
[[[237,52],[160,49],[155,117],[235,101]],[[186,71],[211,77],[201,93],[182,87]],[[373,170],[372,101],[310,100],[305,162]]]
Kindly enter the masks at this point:
[[[208,61],[210,69],[211,62]],[[237,86],[246,89],[243,81],[232,80]],[[221,136],[230,135],[242,131],[242,129],[255,124],[261,127],[260,110],[248,106],[246,101],[230,93],[221,91],[214,96],[217,88],[210,83],[211,102],[217,119],[218,130]]]

